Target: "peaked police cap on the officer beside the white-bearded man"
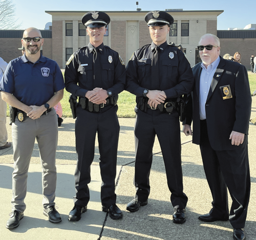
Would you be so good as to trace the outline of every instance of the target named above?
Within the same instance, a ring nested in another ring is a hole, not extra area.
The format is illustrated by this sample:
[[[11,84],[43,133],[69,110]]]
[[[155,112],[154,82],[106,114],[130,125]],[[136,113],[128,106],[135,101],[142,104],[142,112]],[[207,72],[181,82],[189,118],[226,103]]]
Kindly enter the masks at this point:
[[[148,12],[145,15],[145,21],[147,26],[164,26],[164,25],[172,25],[174,23],[174,18],[167,12],[163,11],[152,11]]]

